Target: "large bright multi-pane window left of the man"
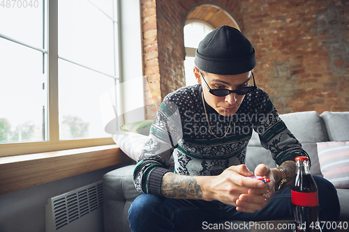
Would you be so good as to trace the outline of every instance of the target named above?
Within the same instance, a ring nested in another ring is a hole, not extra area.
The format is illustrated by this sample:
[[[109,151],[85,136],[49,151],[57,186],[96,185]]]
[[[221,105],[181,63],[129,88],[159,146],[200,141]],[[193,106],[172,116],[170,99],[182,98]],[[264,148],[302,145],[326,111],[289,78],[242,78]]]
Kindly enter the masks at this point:
[[[117,1],[0,0],[0,156],[112,144]]]

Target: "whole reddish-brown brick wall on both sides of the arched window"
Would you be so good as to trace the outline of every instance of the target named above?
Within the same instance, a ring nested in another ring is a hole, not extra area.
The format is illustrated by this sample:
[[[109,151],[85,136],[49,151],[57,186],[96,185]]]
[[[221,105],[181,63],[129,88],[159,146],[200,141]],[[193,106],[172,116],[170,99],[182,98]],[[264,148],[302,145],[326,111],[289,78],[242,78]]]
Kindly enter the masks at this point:
[[[196,6],[226,10],[255,47],[256,83],[281,114],[349,110],[349,1],[141,0],[147,118],[185,85],[183,26]]]

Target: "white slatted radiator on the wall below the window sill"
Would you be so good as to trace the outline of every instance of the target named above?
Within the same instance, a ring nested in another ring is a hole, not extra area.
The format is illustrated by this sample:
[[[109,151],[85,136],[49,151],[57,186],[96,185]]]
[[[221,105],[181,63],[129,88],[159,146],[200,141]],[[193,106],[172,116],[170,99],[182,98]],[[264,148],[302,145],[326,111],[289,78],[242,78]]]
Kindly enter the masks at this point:
[[[102,180],[47,200],[46,232],[103,232]]]

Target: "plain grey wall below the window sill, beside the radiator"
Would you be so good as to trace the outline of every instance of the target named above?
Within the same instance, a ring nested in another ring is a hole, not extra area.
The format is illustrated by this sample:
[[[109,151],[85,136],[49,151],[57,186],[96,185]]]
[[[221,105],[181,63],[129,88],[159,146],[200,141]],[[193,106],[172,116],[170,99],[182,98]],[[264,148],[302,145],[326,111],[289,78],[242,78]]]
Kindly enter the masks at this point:
[[[47,199],[102,180],[105,173],[120,166],[0,195],[0,232],[44,232]]]

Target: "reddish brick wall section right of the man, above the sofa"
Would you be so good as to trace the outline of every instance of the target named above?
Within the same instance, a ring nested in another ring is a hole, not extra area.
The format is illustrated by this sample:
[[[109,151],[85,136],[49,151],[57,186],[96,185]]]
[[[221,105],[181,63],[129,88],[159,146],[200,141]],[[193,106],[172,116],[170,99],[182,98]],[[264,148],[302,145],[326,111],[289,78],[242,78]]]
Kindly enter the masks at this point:
[[[243,1],[258,86],[280,113],[349,110],[349,1]]]

